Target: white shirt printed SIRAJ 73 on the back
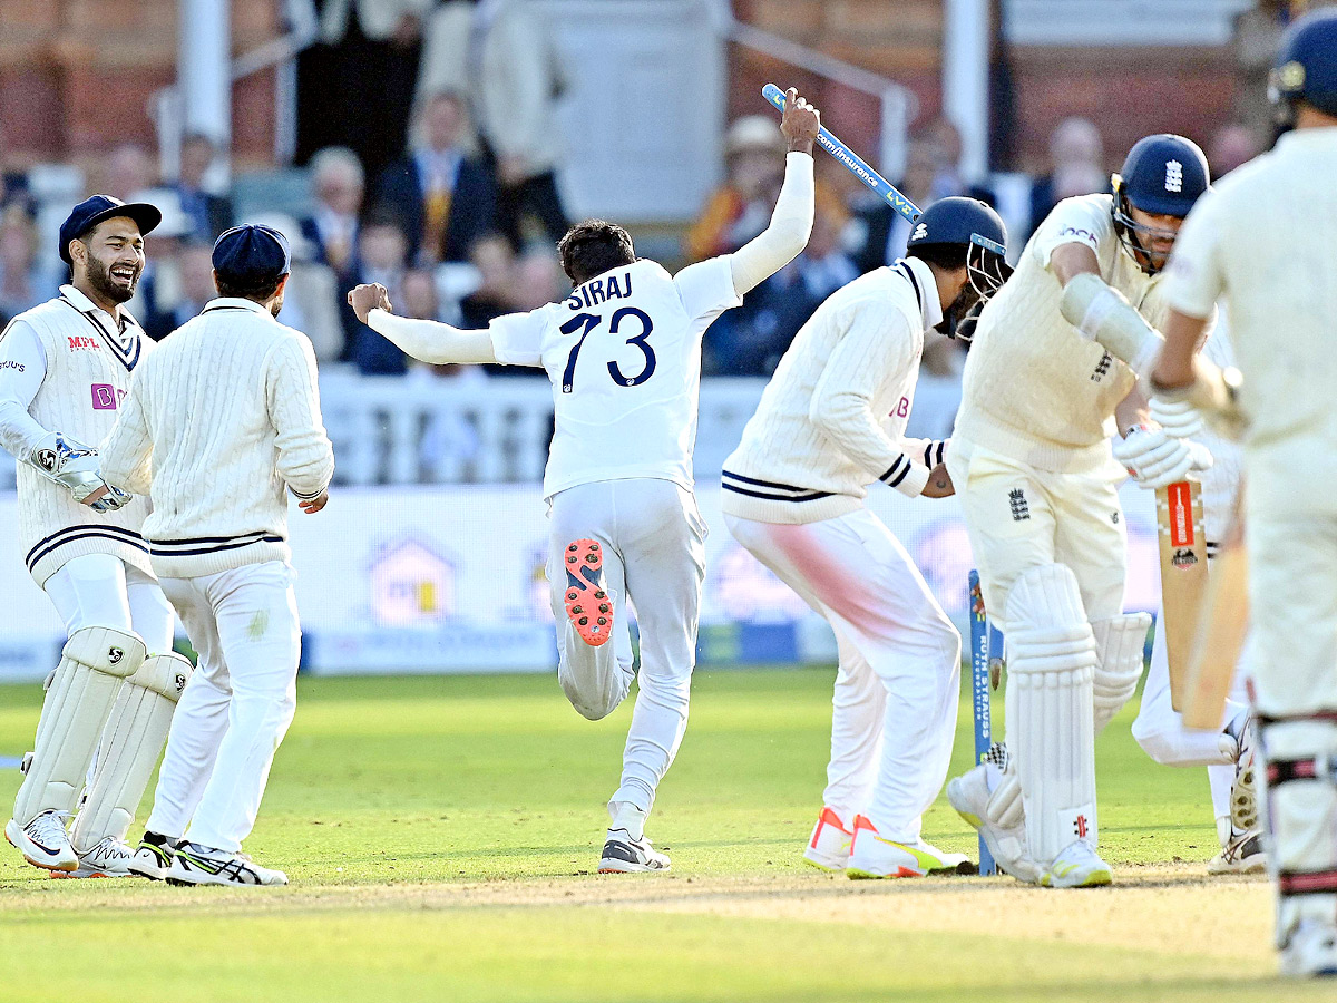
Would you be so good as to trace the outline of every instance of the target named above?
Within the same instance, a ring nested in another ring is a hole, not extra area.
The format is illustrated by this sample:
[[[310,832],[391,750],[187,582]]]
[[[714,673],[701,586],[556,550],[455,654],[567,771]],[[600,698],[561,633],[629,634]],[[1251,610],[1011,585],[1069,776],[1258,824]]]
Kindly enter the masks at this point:
[[[543,493],[654,477],[691,489],[701,338],[738,306],[729,255],[670,275],[642,258],[558,304],[492,321],[496,360],[552,380],[554,435]]]

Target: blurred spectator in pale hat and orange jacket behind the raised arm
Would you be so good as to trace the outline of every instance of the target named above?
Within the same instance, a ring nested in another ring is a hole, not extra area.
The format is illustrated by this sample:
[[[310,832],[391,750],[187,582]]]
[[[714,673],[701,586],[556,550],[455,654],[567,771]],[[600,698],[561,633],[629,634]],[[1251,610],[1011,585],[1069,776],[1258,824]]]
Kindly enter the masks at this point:
[[[689,261],[729,254],[766,229],[785,178],[785,138],[769,115],[735,119],[725,135],[723,186],[687,231]]]

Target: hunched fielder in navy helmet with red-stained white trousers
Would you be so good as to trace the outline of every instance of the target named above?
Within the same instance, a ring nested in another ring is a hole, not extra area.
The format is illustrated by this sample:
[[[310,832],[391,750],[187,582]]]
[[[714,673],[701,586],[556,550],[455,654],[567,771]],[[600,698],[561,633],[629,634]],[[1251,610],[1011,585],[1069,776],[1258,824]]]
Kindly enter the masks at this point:
[[[952,333],[1003,285],[1005,246],[983,202],[935,202],[904,259],[817,308],[725,460],[729,532],[836,633],[832,757],[804,860],[850,877],[965,864],[921,836],[952,757],[961,637],[864,497],[870,483],[952,493],[944,444],[904,437],[924,334]]]

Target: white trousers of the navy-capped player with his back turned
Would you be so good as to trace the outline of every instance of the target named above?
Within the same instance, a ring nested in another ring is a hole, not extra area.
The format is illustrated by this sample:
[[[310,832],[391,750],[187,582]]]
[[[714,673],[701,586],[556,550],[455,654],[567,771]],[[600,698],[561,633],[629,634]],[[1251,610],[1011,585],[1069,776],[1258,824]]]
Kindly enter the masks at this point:
[[[162,584],[199,666],[172,717],[147,828],[237,852],[297,706],[293,570],[269,560]]]

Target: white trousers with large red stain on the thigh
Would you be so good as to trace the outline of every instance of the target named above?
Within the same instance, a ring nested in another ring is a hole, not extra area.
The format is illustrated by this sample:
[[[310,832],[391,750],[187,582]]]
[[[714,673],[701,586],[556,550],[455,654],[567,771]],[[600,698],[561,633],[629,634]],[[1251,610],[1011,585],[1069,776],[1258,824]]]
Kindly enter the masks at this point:
[[[961,635],[868,510],[804,526],[731,515],[725,524],[836,631],[825,804],[913,843],[952,758]]]

